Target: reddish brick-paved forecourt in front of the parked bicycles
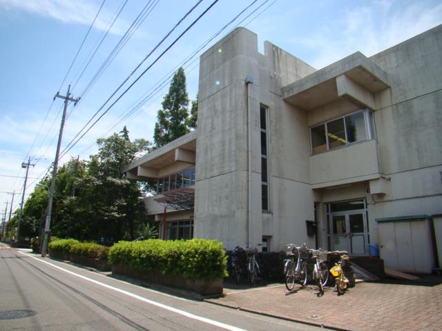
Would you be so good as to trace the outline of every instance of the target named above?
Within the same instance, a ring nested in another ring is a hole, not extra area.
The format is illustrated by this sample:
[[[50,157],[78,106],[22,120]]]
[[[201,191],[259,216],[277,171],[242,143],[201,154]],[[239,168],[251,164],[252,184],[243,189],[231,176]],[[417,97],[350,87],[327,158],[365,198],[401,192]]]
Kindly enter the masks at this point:
[[[412,283],[358,283],[340,297],[328,287],[322,297],[311,285],[296,289],[287,293],[283,284],[247,288],[224,283],[224,297],[205,301],[338,330],[442,330],[440,276]]]

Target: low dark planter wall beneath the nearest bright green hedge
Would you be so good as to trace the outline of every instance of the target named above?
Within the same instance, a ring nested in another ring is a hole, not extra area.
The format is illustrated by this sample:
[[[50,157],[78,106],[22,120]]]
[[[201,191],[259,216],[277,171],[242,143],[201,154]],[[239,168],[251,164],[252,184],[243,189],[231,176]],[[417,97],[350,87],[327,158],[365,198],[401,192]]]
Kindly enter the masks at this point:
[[[182,288],[191,290],[200,295],[217,295],[222,294],[223,280],[214,279],[212,281],[204,281],[202,279],[185,278],[175,276],[173,274],[161,274],[160,272],[136,270],[127,265],[112,265],[112,274],[128,276],[148,283],[166,285],[172,288]]]

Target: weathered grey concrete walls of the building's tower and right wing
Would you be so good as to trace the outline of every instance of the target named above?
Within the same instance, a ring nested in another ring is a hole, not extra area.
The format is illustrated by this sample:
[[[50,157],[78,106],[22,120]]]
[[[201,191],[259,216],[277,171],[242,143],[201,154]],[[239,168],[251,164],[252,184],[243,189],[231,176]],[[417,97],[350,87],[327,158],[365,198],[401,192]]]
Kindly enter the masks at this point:
[[[373,93],[370,103],[375,140],[315,155],[310,155],[309,127],[359,106],[336,99],[305,111],[283,101],[282,87],[315,69],[269,42],[265,54],[259,54],[256,34],[249,30],[238,28],[205,52],[200,65],[195,237],[220,239],[226,248],[255,246],[262,235],[271,236],[271,250],[290,242],[309,241],[313,246],[305,220],[314,219],[315,201],[322,202],[318,215],[323,247],[325,203],[366,199],[372,243],[378,241],[376,218],[441,213],[441,31],[435,28],[370,58],[390,84]],[[248,86],[247,77],[253,79]],[[269,115],[269,212],[264,213],[260,104]]]

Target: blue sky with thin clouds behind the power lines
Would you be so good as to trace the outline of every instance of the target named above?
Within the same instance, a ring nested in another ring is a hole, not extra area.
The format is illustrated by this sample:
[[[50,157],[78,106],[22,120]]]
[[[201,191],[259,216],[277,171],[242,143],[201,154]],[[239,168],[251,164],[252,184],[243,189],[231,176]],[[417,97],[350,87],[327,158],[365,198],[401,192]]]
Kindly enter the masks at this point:
[[[203,0],[164,44],[135,72],[129,83],[172,43],[213,0]],[[252,0],[219,0],[184,37],[129,90],[120,101],[61,160],[80,156],[88,159],[97,152],[95,141],[119,132],[126,125],[131,138],[152,139],[157,110],[169,88],[153,94],[135,108],[146,92],[167,77],[186,57]],[[154,0],[151,12],[117,54],[95,85],[84,93],[102,63],[124,35],[148,1],[106,0],[88,34],[72,69],[67,75],[86,32],[103,0],[0,0],[0,210],[4,212],[10,192],[23,188],[25,170],[21,163],[31,158],[28,188],[46,173],[55,157],[61,120],[62,100],[73,86],[73,97],[81,97],[75,108],[68,108],[62,150],[104,104],[114,90],[131,74],[138,63],[171,30],[197,0]],[[262,5],[262,6],[261,6]],[[97,44],[122,8],[95,56],[84,70]],[[253,10],[261,6],[242,23]],[[259,16],[258,16],[259,14]],[[442,23],[442,1],[300,1],[257,0],[249,10],[221,32],[202,51],[209,48],[237,24],[258,34],[258,47],[265,40],[287,50],[315,68],[323,68],[352,52],[371,56]],[[200,54],[199,52],[198,54]],[[190,99],[198,92],[198,56],[184,66]],[[81,72],[84,74],[80,75]],[[61,84],[64,81],[63,84]],[[128,86],[126,84],[125,86]],[[122,92],[123,90],[121,90]],[[119,95],[119,94],[117,94]],[[104,110],[106,110],[104,108]],[[120,121],[133,110],[133,114]],[[27,195],[26,195],[27,197]]]

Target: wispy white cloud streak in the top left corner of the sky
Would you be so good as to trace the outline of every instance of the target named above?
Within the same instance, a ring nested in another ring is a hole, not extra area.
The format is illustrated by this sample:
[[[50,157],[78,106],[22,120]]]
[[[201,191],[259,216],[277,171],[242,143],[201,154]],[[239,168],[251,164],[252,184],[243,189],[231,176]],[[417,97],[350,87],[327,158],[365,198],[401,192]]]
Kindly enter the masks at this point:
[[[0,10],[12,12],[24,10],[50,17],[63,23],[79,23],[90,25],[97,14],[100,4],[85,0],[0,0]],[[115,9],[116,10],[116,9]],[[98,30],[107,30],[113,19],[113,14],[106,13],[104,8],[100,12],[94,27]],[[113,34],[122,34],[123,26],[127,26],[121,19],[115,22],[111,29]]]

